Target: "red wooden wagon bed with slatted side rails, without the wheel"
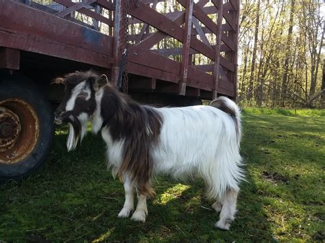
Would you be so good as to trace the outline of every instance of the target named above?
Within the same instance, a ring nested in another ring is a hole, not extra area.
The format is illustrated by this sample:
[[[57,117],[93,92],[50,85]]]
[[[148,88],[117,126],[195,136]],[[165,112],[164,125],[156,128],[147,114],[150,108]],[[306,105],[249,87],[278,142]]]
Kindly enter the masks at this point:
[[[34,53],[99,68],[116,83],[127,46],[130,90],[235,98],[239,0],[173,2],[176,10],[162,0],[0,0],[0,68],[19,69]]]

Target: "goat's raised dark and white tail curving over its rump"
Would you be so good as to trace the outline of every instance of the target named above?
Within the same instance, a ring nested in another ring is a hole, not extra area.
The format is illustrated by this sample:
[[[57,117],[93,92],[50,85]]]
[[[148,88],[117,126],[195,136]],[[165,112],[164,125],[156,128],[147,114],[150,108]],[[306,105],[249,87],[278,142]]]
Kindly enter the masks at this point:
[[[237,142],[239,144],[241,141],[241,111],[236,103],[227,97],[218,97],[211,101],[209,105],[226,112],[234,120]]]

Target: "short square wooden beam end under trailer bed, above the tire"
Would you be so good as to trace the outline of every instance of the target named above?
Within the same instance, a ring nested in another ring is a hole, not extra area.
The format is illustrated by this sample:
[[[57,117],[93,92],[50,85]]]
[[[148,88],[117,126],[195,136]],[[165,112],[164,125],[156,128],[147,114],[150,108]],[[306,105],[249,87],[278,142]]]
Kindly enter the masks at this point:
[[[19,70],[21,52],[18,49],[0,47],[0,68]]]

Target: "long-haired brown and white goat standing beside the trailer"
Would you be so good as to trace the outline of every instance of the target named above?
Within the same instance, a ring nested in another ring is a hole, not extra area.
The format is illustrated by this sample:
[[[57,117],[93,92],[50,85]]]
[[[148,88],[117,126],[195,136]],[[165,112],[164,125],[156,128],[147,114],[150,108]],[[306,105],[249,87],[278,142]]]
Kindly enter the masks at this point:
[[[68,151],[84,138],[88,120],[107,144],[108,168],[125,189],[120,218],[133,211],[136,190],[138,204],[131,219],[145,222],[154,175],[200,175],[208,198],[215,201],[213,209],[220,212],[215,226],[229,229],[244,179],[241,118],[233,101],[219,97],[210,105],[156,108],[136,103],[110,85],[106,75],[91,71],[70,73],[55,82],[65,86],[55,122],[69,123]]]

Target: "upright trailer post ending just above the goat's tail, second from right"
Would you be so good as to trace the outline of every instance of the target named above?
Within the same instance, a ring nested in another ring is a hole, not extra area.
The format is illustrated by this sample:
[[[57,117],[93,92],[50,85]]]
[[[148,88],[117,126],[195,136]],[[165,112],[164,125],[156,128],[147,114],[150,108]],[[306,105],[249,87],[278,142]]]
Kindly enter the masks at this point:
[[[221,48],[221,32],[222,32],[222,18],[223,18],[223,0],[219,0],[215,7],[217,8],[217,43],[215,44],[215,66],[213,68],[213,90],[212,99],[218,97],[218,84],[219,84],[219,64],[220,64],[220,48]],[[213,1],[214,3],[214,1]]]

